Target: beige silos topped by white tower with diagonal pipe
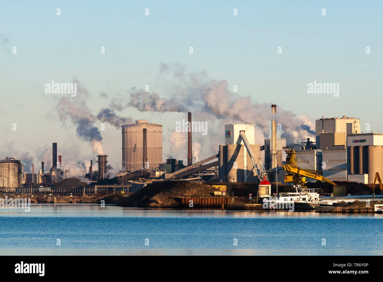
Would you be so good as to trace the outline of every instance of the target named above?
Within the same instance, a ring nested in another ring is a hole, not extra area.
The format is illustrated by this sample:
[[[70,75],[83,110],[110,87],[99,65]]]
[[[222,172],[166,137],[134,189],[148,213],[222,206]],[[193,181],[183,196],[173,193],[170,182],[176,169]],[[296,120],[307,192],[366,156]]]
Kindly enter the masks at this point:
[[[252,170],[253,163],[240,136],[241,131],[244,131],[255,155],[255,163],[258,167],[260,166],[260,145],[254,144],[254,125],[225,125],[225,145],[219,145],[219,181],[221,182],[259,181],[255,170]]]

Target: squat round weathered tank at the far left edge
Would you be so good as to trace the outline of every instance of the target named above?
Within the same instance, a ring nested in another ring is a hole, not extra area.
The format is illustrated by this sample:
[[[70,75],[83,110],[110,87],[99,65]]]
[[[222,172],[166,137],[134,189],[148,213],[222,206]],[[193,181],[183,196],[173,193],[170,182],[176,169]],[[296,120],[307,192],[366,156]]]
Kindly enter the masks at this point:
[[[21,187],[21,176],[23,166],[20,160],[6,157],[0,160],[0,187],[18,188]]]

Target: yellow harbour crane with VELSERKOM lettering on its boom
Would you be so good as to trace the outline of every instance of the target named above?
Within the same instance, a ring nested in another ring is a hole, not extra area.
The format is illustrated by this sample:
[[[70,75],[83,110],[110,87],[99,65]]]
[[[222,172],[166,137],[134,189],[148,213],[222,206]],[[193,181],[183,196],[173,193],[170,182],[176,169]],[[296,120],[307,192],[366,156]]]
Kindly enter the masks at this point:
[[[287,172],[287,174],[284,177],[285,182],[287,183],[300,184],[303,186],[304,183],[307,182],[306,177],[308,177],[319,181],[325,181],[332,185],[336,185],[336,183],[332,182],[331,180],[328,180],[326,177],[319,175],[318,170],[308,170],[299,168],[294,149],[289,150],[286,158],[286,164],[282,165],[282,168]]]

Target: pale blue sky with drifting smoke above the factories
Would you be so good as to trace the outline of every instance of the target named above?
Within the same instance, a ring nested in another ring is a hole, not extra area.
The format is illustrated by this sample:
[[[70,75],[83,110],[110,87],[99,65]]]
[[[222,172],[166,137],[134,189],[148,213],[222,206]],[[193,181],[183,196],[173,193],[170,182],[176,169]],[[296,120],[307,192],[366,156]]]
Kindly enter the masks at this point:
[[[263,145],[270,104],[278,105],[277,122],[285,128],[278,136],[291,142],[313,138],[309,131],[322,116],[359,117],[361,128],[383,132],[381,1],[4,1],[0,7],[0,158],[20,158],[26,171],[31,158],[51,167],[52,142],[73,174],[95,160],[78,124],[63,116],[66,98],[98,130],[105,108],[163,124],[164,161],[187,160],[185,134],[174,131],[188,111],[208,122],[207,135],[193,134],[195,160],[218,152],[227,123],[260,124],[255,140]],[[77,82],[83,91],[47,94],[51,81]],[[314,81],[339,83],[339,96],[309,94]],[[132,87],[139,92],[146,85],[178,110],[132,106]],[[298,120],[307,134],[291,132]],[[121,169],[121,129],[105,123],[100,135],[109,164]]]

